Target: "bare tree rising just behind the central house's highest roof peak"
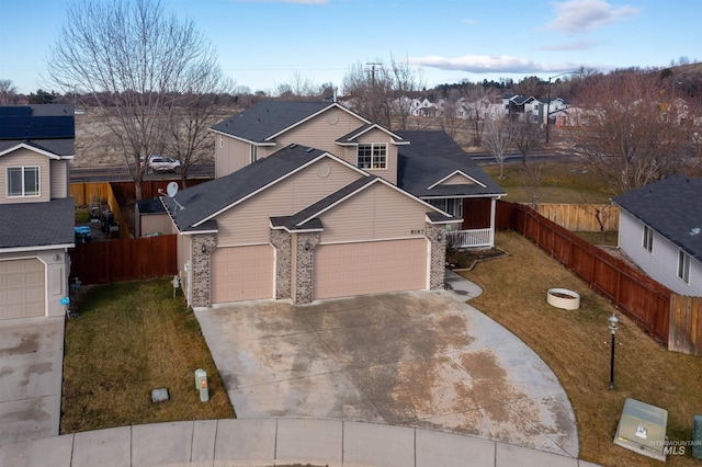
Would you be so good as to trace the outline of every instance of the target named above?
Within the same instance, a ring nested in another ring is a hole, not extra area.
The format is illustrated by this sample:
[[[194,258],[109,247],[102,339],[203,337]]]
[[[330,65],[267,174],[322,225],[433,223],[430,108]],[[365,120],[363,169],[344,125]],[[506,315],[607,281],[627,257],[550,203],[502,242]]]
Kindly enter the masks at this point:
[[[343,94],[353,110],[386,128],[407,129],[411,109],[404,98],[411,98],[421,86],[409,64],[394,58],[389,66],[381,60],[355,64],[343,77]]]

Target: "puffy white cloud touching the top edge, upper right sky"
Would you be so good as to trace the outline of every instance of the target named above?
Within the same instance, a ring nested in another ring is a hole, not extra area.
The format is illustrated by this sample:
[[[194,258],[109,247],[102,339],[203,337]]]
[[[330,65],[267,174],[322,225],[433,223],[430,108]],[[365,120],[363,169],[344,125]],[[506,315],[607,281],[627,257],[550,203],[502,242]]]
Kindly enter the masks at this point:
[[[638,13],[634,7],[614,8],[605,0],[567,0],[553,7],[555,18],[544,29],[564,33],[596,30]]]

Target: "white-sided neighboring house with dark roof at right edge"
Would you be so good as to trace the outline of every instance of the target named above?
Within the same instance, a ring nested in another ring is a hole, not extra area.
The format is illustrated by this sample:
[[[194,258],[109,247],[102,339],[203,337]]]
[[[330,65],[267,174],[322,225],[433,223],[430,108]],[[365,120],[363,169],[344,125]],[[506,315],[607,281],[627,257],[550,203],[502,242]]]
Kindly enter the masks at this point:
[[[702,179],[672,175],[613,202],[621,250],[676,294],[702,296]]]

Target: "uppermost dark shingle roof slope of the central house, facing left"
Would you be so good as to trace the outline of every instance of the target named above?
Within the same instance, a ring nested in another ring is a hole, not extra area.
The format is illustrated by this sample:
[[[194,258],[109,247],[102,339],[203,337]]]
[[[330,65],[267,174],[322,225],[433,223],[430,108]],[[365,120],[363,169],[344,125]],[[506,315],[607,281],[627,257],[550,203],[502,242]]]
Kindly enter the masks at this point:
[[[212,129],[253,143],[288,128],[301,121],[336,105],[314,101],[267,101],[252,105],[244,112],[219,122]]]

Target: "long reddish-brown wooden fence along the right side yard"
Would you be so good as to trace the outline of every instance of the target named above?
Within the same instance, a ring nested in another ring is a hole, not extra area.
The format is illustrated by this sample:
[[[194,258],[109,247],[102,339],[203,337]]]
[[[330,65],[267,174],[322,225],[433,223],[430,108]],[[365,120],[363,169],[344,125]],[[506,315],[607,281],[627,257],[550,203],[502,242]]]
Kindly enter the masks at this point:
[[[529,206],[498,203],[500,221],[558,259],[592,288],[609,297],[658,341],[668,343],[671,292],[623,261],[541,216]]]

